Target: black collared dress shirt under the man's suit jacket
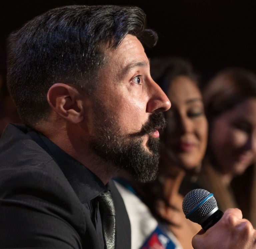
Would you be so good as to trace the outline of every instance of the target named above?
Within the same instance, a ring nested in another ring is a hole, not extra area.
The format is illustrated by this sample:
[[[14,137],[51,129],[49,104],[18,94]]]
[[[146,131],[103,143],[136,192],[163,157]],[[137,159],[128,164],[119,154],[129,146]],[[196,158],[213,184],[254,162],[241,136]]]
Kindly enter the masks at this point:
[[[91,220],[99,236],[99,249],[104,249],[99,203],[96,197],[104,190],[109,190],[109,188],[83,164],[67,154],[40,132],[29,128],[27,134],[53,157],[74,188],[76,194],[82,199],[82,204],[89,211]]]

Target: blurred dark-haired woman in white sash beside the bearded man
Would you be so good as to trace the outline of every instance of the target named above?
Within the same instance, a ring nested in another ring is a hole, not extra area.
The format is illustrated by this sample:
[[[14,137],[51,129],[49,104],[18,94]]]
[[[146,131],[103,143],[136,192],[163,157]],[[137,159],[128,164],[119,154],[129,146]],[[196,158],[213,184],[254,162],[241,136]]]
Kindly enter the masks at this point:
[[[201,226],[185,218],[179,188],[185,174],[200,169],[206,150],[202,95],[191,65],[183,59],[151,60],[151,76],[172,105],[165,112],[168,124],[160,134],[159,174],[144,184],[118,178],[117,186],[131,221],[132,249],[192,249],[192,237]]]

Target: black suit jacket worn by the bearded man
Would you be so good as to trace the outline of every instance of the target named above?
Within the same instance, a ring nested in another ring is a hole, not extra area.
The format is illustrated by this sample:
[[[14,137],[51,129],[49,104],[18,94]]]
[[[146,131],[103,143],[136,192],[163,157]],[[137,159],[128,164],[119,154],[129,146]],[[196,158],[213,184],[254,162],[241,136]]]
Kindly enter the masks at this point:
[[[87,183],[79,182],[76,166],[68,174],[32,137],[26,126],[8,125],[0,139],[0,248],[99,249],[84,206],[93,198],[91,186],[83,191]],[[116,209],[116,248],[130,249],[129,218],[112,181],[109,186]]]

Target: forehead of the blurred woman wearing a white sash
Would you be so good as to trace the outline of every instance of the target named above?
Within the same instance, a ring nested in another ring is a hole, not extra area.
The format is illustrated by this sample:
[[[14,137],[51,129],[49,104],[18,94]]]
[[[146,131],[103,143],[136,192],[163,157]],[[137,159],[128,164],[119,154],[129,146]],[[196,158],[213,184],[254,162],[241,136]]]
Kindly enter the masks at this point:
[[[172,80],[168,89],[168,97],[172,102],[202,98],[196,83],[186,76],[178,76]]]

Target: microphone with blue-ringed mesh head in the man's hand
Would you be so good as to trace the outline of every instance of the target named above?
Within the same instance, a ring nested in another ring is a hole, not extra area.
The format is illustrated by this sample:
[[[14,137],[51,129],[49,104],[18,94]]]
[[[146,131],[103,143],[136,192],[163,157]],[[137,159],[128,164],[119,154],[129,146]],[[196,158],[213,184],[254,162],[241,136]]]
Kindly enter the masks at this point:
[[[185,195],[182,209],[187,219],[200,224],[204,230],[216,224],[223,215],[213,194],[200,188]]]

